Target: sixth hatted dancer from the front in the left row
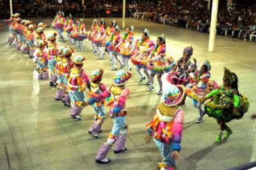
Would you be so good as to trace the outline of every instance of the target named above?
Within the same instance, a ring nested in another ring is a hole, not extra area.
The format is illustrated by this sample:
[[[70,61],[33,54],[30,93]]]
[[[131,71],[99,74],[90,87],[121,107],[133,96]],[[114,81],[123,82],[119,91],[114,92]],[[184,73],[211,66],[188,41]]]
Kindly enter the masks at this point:
[[[56,37],[57,33],[54,32],[53,34],[50,34],[50,36],[47,38],[48,40],[48,67],[51,74],[51,80],[49,82],[50,86],[56,87],[56,81],[58,80],[57,75],[55,73],[55,66],[57,64],[57,52],[58,52],[58,44],[56,43]]]

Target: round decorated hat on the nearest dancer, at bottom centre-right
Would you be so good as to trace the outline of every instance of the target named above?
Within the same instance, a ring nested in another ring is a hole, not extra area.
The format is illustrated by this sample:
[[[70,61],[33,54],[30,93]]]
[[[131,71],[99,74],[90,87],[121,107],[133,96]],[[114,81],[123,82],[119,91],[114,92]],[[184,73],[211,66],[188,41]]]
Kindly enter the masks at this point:
[[[173,107],[179,105],[185,96],[185,87],[183,85],[170,85],[163,92],[162,100],[165,106]]]

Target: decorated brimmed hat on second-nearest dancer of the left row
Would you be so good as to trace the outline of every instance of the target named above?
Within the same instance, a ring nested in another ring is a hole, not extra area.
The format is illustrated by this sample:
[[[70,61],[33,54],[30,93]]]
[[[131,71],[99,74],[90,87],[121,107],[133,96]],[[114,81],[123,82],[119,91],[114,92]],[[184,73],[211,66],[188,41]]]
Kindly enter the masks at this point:
[[[116,72],[115,77],[113,78],[113,83],[116,86],[122,86],[127,83],[132,77],[132,73],[129,71],[124,71],[124,69],[120,69]]]

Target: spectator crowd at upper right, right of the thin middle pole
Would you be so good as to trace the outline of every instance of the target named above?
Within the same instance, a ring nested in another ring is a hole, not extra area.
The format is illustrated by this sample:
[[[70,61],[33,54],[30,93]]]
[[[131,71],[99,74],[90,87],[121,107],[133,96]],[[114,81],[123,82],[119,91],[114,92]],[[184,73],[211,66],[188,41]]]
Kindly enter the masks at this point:
[[[207,1],[163,0],[157,3],[141,1],[141,4],[130,4],[132,17],[159,24],[175,25],[200,32],[209,32],[211,11]],[[211,7],[211,6],[210,6]],[[135,12],[134,12],[135,11]],[[217,34],[233,38],[249,39],[255,31],[256,2],[220,1],[218,8]]]

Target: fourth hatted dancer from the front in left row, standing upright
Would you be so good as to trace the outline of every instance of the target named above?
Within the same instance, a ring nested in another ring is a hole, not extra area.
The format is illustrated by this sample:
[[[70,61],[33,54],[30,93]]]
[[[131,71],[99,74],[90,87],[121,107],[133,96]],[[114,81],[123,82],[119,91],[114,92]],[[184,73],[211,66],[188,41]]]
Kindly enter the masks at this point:
[[[90,79],[83,69],[82,56],[76,56],[74,59],[74,67],[70,69],[70,77],[68,78],[68,94],[71,99],[71,112],[72,118],[81,120],[81,112],[83,107],[86,106],[87,100],[85,96],[86,86],[91,90]]]

